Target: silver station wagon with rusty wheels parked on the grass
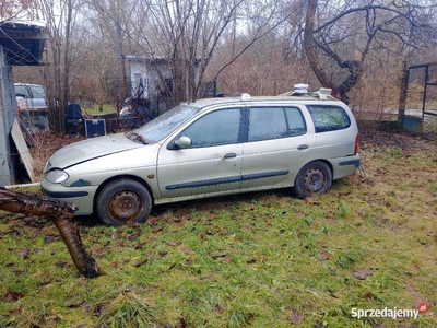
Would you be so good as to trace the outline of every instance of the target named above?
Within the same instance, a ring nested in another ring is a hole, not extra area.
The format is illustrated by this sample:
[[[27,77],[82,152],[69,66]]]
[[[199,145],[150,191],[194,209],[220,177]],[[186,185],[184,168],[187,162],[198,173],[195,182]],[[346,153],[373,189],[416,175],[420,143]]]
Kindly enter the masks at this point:
[[[143,127],[84,140],[47,162],[43,191],[106,224],[144,222],[153,204],[292,188],[322,195],[359,166],[350,108],[311,94],[184,103]]]

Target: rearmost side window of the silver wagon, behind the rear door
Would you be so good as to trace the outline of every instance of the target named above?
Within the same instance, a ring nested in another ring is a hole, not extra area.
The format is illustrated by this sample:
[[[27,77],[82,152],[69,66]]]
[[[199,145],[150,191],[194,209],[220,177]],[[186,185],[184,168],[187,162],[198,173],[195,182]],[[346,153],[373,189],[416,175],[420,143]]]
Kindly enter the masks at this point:
[[[342,107],[307,105],[307,108],[315,124],[316,133],[342,130],[351,126],[351,119]]]

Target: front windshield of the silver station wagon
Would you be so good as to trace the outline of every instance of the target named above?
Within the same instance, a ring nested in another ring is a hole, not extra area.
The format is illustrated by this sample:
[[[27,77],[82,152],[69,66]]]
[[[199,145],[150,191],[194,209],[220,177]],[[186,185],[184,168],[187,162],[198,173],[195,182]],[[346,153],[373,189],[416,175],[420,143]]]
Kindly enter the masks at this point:
[[[139,136],[147,143],[158,142],[199,113],[199,108],[179,105],[126,136]]]

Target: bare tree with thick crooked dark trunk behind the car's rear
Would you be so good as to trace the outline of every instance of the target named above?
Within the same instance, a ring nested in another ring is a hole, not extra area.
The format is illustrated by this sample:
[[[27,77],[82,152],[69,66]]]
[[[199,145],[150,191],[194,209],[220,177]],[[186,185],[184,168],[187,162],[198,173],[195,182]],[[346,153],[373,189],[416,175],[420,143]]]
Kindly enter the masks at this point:
[[[308,0],[304,48],[320,83],[347,102],[365,61],[380,49],[409,52],[437,43],[435,10],[425,0]]]

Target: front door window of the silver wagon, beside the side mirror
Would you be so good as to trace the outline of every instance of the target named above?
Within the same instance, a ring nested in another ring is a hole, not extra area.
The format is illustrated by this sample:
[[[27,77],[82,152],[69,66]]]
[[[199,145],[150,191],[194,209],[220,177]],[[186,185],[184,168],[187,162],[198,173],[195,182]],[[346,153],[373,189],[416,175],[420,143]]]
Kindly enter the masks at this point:
[[[202,116],[181,133],[191,139],[192,148],[238,142],[240,109],[220,109]]]

